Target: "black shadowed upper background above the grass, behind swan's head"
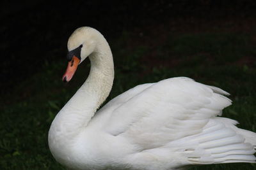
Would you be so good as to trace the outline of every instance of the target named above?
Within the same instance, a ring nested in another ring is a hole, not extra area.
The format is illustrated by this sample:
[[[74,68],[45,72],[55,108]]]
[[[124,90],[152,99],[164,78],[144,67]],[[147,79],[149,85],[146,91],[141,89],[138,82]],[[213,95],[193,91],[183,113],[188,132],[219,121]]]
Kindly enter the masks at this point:
[[[164,34],[231,21],[233,29],[246,31],[255,25],[255,11],[253,0],[2,1],[1,94],[38,71],[44,60],[65,59],[68,36],[77,27],[95,27],[107,39],[125,30],[154,32],[158,25]]]

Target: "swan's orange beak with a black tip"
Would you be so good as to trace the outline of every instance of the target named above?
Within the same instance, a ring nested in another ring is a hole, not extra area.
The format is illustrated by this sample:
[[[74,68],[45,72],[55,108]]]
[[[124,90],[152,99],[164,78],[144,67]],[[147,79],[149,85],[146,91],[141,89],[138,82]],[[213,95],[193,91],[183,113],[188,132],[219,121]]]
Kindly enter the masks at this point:
[[[64,82],[68,82],[72,79],[72,76],[75,74],[79,62],[80,62],[80,59],[76,57],[76,55],[73,55],[72,59],[68,61],[67,70],[62,77],[62,80]]]

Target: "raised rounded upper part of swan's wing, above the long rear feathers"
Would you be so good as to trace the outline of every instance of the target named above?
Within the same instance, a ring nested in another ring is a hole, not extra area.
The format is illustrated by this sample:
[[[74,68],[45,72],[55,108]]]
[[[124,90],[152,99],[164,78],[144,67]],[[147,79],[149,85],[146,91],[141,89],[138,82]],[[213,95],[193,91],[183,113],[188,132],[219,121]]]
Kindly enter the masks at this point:
[[[202,132],[210,118],[221,115],[223,108],[231,104],[221,95],[227,92],[184,77],[145,85],[138,91],[109,103],[115,108],[103,128],[143,149]]]

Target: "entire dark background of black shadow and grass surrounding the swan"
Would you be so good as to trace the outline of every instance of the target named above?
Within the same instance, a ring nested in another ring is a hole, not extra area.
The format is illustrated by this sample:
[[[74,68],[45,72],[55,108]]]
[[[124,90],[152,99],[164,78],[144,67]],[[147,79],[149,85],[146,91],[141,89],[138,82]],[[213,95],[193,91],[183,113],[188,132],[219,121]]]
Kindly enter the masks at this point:
[[[234,104],[223,115],[256,131],[254,0],[1,1],[0,19],[0,169],[62,169],[47,132],[90,69],[86,60],[61,82],[68,37],[81,26],[99,30],[111,46],[107,100],[140,83],[189,76],[230,92]]]

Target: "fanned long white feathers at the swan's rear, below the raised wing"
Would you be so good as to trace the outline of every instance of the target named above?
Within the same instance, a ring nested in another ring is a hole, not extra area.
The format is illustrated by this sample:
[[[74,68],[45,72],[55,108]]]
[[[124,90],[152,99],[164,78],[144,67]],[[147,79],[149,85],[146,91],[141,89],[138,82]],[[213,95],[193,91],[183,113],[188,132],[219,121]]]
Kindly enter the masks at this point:
[[[227,118],[212,118],[208,124],[188,140],[194,146],[189,146],[192,152],[185,149],[184,156],[191,164],[256,163],[254,132],[237,128],[237,122]]]

